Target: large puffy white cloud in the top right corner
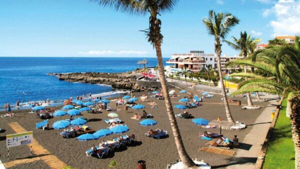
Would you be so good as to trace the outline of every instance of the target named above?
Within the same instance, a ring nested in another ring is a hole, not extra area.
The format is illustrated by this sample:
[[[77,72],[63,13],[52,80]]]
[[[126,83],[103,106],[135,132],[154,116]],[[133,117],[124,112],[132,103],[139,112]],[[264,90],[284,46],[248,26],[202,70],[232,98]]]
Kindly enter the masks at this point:
[[[263,16],[275,15],[269,22],[272,36],[300,33],[300,0],[278,0],[273,7],[264,10]]]

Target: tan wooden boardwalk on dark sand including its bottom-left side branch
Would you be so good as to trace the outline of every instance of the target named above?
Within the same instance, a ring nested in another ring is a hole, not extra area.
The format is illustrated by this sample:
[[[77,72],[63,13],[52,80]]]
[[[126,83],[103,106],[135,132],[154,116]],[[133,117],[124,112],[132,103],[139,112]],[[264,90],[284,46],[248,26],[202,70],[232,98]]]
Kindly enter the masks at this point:
[[[16,133],[18,132],[26,132],[26,130],[17,122],[11,122],[8,124]],[[30,148],[30,145],[27,145]],[[32,141],[32,152],[38,158],[29,158],[25,160],[14,160],[7,162],[7,164],[11,167],[14,165],[22,164],[22,163],[28,163],[33,162],[35,160],[41,159],[43,160],[47,165],[49,165],[51,168],[57,168],[61,169],[62,167],[66,166],[67,164],[61,161],[59,158],[57,158],[55,155],[51,154],[47,149],[43,148],[34,138]],[[6,163],[4,163],[6,166]],[[6,167],[9,167],[6,166]]]

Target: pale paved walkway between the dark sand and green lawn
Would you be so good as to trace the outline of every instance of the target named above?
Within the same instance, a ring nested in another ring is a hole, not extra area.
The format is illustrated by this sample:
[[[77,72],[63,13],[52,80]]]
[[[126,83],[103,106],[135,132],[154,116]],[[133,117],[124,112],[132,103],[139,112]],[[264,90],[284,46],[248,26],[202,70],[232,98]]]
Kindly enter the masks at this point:
[[[252,129],[246,135],[243,143],[252,145],[249,150],[238,149],[236,155],[233,157],[233,160],[228,164],[228,169],[247,169],[254,168],[256,159],[261,150],[261,146],[264,142],[265,136],[267,134],[268,128],[271,124],[271,111],[276,108],[278,96],[266,94],[261,96],[262,98],[273,99],[270,100],[270,104],[265,107],[261,114],[257,117],[256,121],[253,124]],[[255,102],[253,102],[255,104]],[[241,141],[241,140],[240,140]]]

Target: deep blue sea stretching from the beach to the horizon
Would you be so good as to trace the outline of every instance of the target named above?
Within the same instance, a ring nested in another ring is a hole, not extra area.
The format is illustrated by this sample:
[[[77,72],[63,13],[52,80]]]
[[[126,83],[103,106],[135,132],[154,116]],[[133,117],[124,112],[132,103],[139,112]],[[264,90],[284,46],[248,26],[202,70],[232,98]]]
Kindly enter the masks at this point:
[[[3,104],[44,100],[54,102],[70,96],[113,91],[111,86],[73,83],[49,76],[49,72],[122,72],[138,68],[142,58],[133,57],[0,57],[0,109]],[[146,66],[157,65],[146,58]],[[166,58],[164,59],[165,63]]]

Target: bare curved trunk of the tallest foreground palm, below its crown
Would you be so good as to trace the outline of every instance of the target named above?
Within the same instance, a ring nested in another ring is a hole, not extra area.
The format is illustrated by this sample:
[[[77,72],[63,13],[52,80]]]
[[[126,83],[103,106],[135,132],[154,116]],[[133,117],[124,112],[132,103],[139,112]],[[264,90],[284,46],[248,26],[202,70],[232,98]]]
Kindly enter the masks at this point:
[[[175,144],[177,147],[177,151],[179,154],[179,157],[181,159],[181,161],[184,163],[185,166],[187,167],[191,167],[191,166],[195,166],[195,163],[193,162],[193,160],[188,156],[185,148],[184,148],[184,144],[180,135],[180,131],[177,125],[177,121],[174,115],[174,111],[172,108],[172,104],[171,104],[171,99],[170,96],[168,95],[168,89],[167,89],[167,85],[166,85],[166,80],[165,80],[165,75],[164,75],[164,67],[163,67],[163,63],[162,63],[162,55],[161,55],[161,44],[160,42],[155,42],[155,49],[156,49],[156,56],[157,56],[157,62],[158,62],[158,71],[159,71],[159,76],[160,76],[160,83],[161,83],[161,88],[162,88],[162,92],[163,92],[163,96],[164,96],[164,100],[165,100],[165,106],[166,106],[166,111],[167,111],[167,115],[169,117],[170,120],[170,124],[171,124],[171,128],[173,131],[173,135],[174,135],[174,139],[175,139]]]

